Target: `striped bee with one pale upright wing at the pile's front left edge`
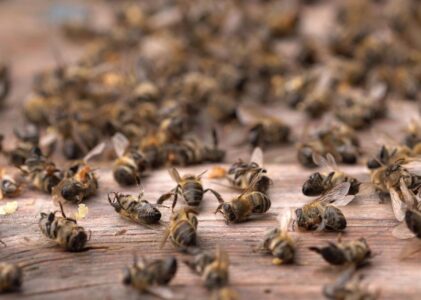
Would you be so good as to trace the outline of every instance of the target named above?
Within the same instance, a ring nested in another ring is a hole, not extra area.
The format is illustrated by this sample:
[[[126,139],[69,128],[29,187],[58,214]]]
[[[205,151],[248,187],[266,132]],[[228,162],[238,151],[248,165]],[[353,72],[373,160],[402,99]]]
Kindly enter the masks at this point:
[[[145,155],[135,147],[129,147],[129,140],[117,133],[112,138],[117,160],[114,162],[114,179],[120,185],[134,185],[149,167]]]

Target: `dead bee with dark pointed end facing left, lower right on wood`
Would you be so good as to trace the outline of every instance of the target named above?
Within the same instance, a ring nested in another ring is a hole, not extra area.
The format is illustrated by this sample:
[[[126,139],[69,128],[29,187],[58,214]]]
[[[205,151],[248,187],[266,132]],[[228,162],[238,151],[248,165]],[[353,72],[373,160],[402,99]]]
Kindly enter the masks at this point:
[[[354,264],[356,267],[362,266],[372,257],[370,247],[364,238],[350,242],[342,242],[338,237],[338,242],[329,242],[323,248],[310,247],[311,251],[320,254],[328,263],[341,266]]]

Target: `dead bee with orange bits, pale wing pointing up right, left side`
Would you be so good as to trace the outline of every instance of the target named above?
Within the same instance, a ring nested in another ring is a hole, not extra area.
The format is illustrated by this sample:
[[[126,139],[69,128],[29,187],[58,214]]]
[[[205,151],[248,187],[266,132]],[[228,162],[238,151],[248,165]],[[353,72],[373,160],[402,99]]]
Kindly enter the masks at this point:
[[[105,143],[97,145],[84,157],[83,162],[76,163],[67,170],[63,180],[53,189],[56,200],[80,203],[96,194],[98,179],[88,161],[101,154],[104,147]]]

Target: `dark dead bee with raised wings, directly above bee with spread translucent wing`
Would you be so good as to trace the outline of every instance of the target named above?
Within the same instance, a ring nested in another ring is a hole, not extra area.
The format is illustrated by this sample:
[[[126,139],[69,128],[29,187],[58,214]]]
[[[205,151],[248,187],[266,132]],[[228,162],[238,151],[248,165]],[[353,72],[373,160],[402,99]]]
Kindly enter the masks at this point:
[[[313,161],[321,167],[330,170],[328,173],[315,172],[303,184],[303,194],[306,196],[319,196],[326,193],[334,186],[342,183],[349,182],[349,195],[356,195],[359,191],[361,182],[358,179],[351,177],[339,170],[335,158],[328,153],[326,159],[314,153]]]

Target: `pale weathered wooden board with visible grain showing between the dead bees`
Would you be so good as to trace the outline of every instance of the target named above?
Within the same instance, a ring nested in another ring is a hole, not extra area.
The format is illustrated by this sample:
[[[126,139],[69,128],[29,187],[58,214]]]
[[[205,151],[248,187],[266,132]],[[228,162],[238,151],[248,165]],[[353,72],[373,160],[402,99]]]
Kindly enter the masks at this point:
[[[49,42],[58,42],[66,60],[77,57],[80,49],[65,44],[55,37],[54,29],[46,22],[49,1],[0,1],[0,53],[13,64],[14,89],[6,107],[0,111],[0,130],[10,137],[14,126],[22,123],[19,104],[30,90],[33,73],[54,63]],[[57,2],[56,2],[57,3]],[[92,4],[91,2],[88,2]],[[322,15],[328,15],[321,10]],[[54,37],[54,38],[53,38]],[[389,119],[381,121],[379,128],[396,132],[402,116],[411,110],[408,103],[392,105]],[[405,111],[405,113],[403,113]],[[291,118],[290,118],[291,119]],[[299,118],[291,123],[299,122]],[[296,132],[297,134],[299,131]],[[370,146],[370,131],[362,134],[363,144]],[[244,155],[247,151],[230,150],[228,161]],[[214,215],[217,206],[211,195],[206,195],[199,215],[198,234],[200,245],[212,249],[221,245],[230,255],[230,281],[242,299],[322,299],[323,284],[334,280],[338,270],[328,267],[316,254],[307,250],[309,246],[321,245],[336,239],[335,233],[294,233],[299,239],[298,265],[274,266],[270,256],[253,253],[263,234],[277,225],[276,214],[284,207],[303,205],[308,198],[301,194],[301,185],[310,171],[298,166],[293,146],[271,149],[269,160],[280,162],[266,165],[274,180],[270,190],[272,207],[267,217],[250,222],[226,225],[220,215]],[[0,161],[4,165],[4,161]],[[211,166],[202,165],[181,172],[200,173]],[[346,167],[344,170],[361,180],[368,179],[363,164]],[[122,189],[112,180],[109,166],[101,165],[100,192],[86,204],[88,218],[80,222],[92,231],[90,245],[108,247],[106,250],[91,250],[82,253],[66,253],[44,238],[38,228],[40,211],[55,209],[51,198],[35,191],[26,191],[17,201],[18,211],[0,217],[0,238],[7,244],[0,248],[0,261],[25,265],[22,291],[2,296],[2,299],[137,299],[140,296],[131,288],[121,284],[121,270],[132,262],[132,253],[158,258],[174,254],[168,243],[159,250],[162,229],[145,229],[121,219],[108,204],[109,191],[136,193],[136,188]],[[173,187],[165,170],[154,172],[143,182],[146,198],[155,201],[159,195]],[[229,199],[235,191],[209,180],[205,187],[213,187]],[[182,202],[180,202],[182,203]],[[70,212],[75,207],[67,207]],[[359,197],[343,209],[348,220],[344,239],[367,238],[377,255],[371,266],[363,270],[366,280],[381,290],[381,299],[419,299],[421,295],[421,255],[399,260],[400,251],[408,241],[394,239],[390,230],[396,225],[389,203],[379,204],[375,196]],[[163,220],[169,212],[163,210]],[[116,235],[127,230],[123,235]],[[192,274],[181,263],[186,256],[177,253],[179,271],[171,288],[188,299],[208,297],[199,277]],[[148,296],[142,296],[148,298]]]

